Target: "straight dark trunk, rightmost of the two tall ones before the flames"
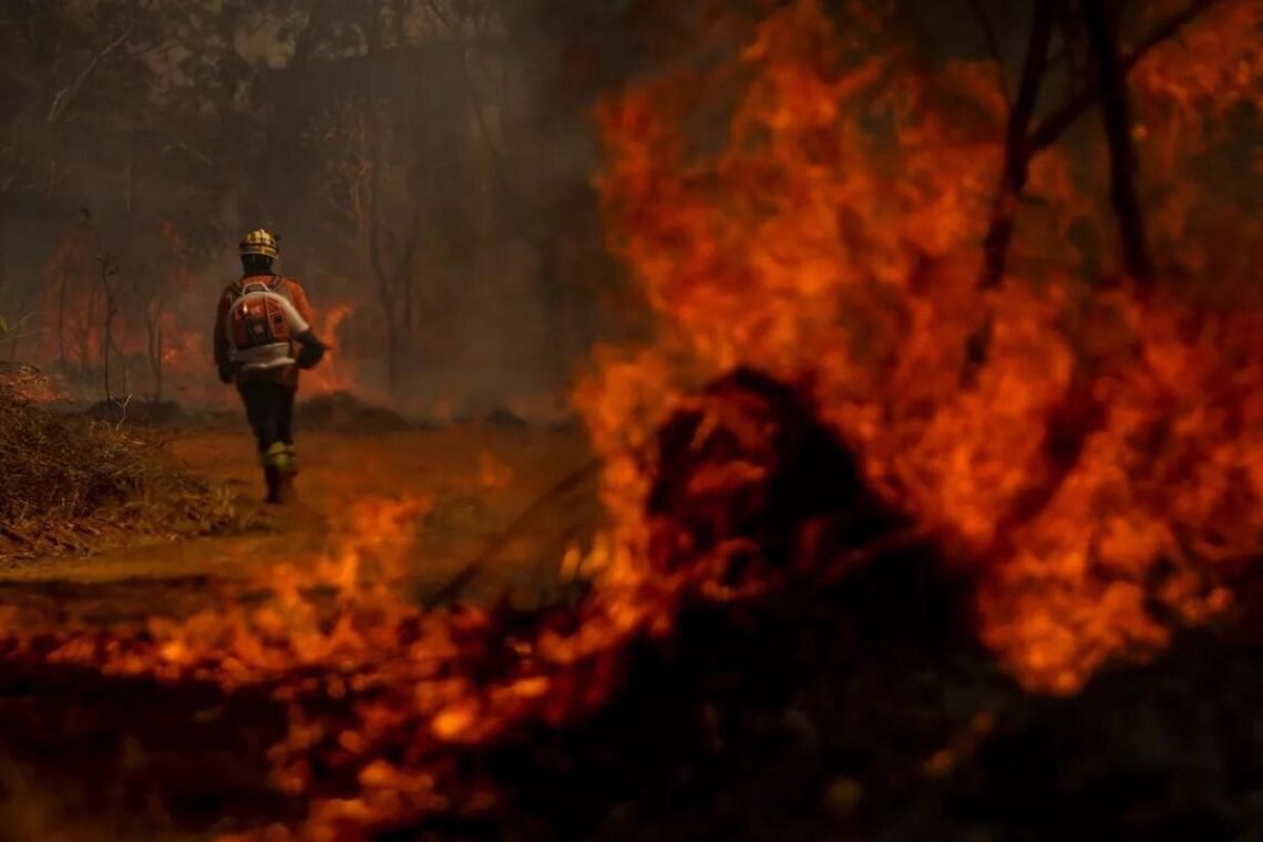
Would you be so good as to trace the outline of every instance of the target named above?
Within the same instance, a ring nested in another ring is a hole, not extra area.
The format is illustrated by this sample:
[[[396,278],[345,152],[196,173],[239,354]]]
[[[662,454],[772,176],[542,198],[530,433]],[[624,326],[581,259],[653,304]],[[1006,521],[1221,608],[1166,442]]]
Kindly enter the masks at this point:
[[[1101,119],[1110,154],[1110,202],[1118,220],[1123,264],[1127,273],[1144,289],[1153,282],[1153,260],[1144,234],[1144,213],[1135,192],[1137,154],[1132,139],[1132,102],[1127,69],[1118,56],[1116,10],[1109,8],[1106,0],[1082,0],[1082,9],[1100,80]]]

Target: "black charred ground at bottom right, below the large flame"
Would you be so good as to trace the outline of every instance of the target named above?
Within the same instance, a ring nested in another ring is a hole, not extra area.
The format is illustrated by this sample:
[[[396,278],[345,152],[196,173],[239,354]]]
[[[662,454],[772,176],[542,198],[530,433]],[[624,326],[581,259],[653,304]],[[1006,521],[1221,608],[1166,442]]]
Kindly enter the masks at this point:
[[[695,617],[586,728],[486,760],[523,781],[509,826],[628,841],[1263,833],[1259,649],[1188,632],[1077,697],[1033,697],[906,584],[870,572],[758,621]]]

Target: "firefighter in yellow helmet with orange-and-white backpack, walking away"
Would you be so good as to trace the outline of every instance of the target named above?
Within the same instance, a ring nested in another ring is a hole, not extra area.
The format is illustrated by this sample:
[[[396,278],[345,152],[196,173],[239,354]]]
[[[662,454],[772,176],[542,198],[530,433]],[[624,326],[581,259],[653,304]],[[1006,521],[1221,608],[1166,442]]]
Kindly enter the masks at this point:
[[[268,502],[293,499],[298,370],[320,364],[327,346],[312,331],[302,285],[273,271],[278,239],[264,230],[241,241],[241,278],[224,289],[215,316],[215,365],[236,382],[259,446]]]

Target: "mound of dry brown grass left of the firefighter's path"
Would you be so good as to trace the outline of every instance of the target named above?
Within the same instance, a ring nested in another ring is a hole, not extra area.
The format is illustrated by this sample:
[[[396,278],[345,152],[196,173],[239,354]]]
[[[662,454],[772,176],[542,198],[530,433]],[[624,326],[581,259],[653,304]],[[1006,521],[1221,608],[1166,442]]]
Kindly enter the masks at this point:
[[[152,434],[59,417],[0,389],[0,558],[226,531],[232,496]]]

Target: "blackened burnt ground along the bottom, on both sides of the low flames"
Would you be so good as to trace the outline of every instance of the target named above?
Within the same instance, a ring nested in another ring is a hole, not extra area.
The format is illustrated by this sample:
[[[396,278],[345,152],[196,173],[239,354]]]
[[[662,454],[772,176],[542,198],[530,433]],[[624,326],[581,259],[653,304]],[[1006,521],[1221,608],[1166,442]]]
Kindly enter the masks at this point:
[[[901,578],[698,611],[600,716],[466,757],[505,793],[493,814],[378,838],[1258,838],[1257,646],[1190,631],[1032,697]],[[266,784],[284,717],[258,693],[14,670],[0,716],[4,838],[205,838],[303,808]]]

